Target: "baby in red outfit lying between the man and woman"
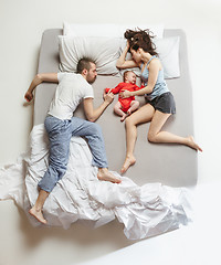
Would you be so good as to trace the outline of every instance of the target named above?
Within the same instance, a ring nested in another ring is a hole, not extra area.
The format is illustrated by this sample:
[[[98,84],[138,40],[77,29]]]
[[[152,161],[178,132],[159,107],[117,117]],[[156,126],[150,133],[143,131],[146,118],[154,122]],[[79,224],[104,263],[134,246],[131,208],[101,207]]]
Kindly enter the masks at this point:
[[[106,93],[112,91],[112,93],[117,94],[123,91],[138,91],[140,87],[136,85],[136,74],[133,71],[126,71],[124,73],[124,82],[119,83],[115,88],[106,88]],[[118,102],[114,106],[114,112],[119,115],[120,121],[124,121],[125,118],[135,112],[139,107],[139,102],[135,100],[135,97],[122,98],[118,96]]]

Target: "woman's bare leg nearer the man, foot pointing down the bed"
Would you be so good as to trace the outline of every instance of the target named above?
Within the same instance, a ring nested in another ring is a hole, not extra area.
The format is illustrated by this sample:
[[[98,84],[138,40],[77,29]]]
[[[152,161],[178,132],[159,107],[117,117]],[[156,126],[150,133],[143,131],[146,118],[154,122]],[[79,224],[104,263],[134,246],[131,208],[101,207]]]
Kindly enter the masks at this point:
[[[126,158],[120,172],[124,173],[136,162],[134,148],[137,139],[137,125],[151,120],[155,109],[150,104],[146,104],[126,119]]]

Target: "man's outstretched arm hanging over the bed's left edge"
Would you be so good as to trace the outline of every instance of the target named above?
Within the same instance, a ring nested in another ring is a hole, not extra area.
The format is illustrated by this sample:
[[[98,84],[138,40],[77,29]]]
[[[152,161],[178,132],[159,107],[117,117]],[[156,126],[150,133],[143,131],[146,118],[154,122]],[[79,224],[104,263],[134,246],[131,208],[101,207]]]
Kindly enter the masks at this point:
[[[28,102],[31,102],[33,98],[33,91],[34,88],[41,84],[42,82],[51,82],[51,83],[59,83],[57,73],[45,73],[45,74],[36,74],[27,91],[24,98]]]

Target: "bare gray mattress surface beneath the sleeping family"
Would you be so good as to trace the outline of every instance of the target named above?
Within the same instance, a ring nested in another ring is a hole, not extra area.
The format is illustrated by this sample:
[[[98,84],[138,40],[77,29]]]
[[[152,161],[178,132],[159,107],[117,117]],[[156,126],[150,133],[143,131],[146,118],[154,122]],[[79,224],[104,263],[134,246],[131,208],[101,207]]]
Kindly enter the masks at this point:
[[[39,73],[59,72],[59,43],[57,35],[62,34],[61,29],[44,31],[42,36]],[[165,125],[168,131],[180,136],[193,135],[192,115],[192,86],[187,61],[187,41],[182,30],[165,30],[165,36],[180,36],[180,71],[179,78],[167,80],[169,89],[175,96],[177,114],[170,117]],[[103,98],[105,87],[115,87],[122,77],[97,76],[93,84],[95,93],[95,107]],[[34,99],[34,125],[42,124],[46,116],[49,105],[54,95],[56,84],[43,83],[35,89]],[[143,97],[137,97],[140,104],[145,104]],[[103,128],[109,170],[118,171],[125,159],[126,141],[125,126],[119,117],[113,113],[112,105],[96,121]],[[84,117],[83,108],[80,105],[74,114]],[[137,184],[147,182],[161,182],[171,187],[190,187],[197,183],[197,152],[186,146],[150,144],[147,141],[149,124],[138,126],[138,138],[135,148],[137,162],[130,167],[125,176],[131,178]]]

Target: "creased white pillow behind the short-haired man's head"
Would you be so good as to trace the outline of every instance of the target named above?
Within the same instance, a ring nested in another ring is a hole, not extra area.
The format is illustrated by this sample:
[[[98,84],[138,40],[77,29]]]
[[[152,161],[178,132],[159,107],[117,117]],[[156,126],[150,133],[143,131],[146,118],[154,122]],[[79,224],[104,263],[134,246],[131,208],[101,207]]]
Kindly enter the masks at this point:
[[[96,36],[59,36],[60,70],[62,72],[76,72],[80,59],[88,56],[96,63],[101,75],[116,75],[117,59],[120,55],[120,38]]]

